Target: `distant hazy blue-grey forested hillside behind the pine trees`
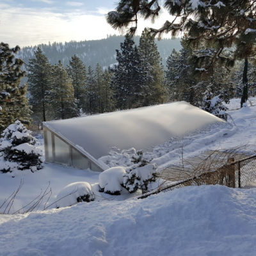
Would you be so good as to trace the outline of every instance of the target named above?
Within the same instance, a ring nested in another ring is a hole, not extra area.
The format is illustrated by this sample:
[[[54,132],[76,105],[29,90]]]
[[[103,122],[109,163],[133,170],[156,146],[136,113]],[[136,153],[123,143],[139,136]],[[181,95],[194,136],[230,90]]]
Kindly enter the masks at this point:
[[[134,36],[134,42],[139,44],[140,36]],[[48,58],[49,63],[58,64],[59,60],[64,66],[69,64],[69,60],[74,54],[86,67],[96,67],[97,63],[101,67],[108,67],[109,65],[116,63],[115,55],[116,49],[120,50],[120,43],[124,42],[124,36],[108,36],[108,38],[101,40],[90,41],[71,41],[65,43],[51,43],[40,44],[35,46],[23,47],[19,52],[19,57],[24,60],[26,64],[29,63],[29,59],[34,57],[34,52],[37,47],[40,47]],[[180,38],[177,39],[163,39],[161,41],[156,40],[157,48],[163,59],[164,68],[166,67],[166,59],[170,56],[173,49],[179,51],[182,47],[180,45]]]

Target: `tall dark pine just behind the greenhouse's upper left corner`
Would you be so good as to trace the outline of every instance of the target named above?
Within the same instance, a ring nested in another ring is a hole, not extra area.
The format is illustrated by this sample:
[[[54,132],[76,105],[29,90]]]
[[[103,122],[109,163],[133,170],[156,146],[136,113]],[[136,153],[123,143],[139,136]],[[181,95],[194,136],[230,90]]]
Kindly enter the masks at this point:
[[[33,107],[33,116],[37,116],[40,122],[51,120],[51,104],[49,90],[51,85],[51,65],[38,47],[35,59],[29,60],[28,84],[30,92],[30,104]]]

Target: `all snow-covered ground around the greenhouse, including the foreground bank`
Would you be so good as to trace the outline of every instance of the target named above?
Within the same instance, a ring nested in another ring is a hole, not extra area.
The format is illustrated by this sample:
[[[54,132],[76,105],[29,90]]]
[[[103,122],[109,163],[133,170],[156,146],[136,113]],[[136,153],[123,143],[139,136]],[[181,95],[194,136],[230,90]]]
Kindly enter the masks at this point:
[[[239,99],[233,99],[227,106],[238,109],[239,104]],[[155,147],[148,156],[163,168],[179,161],[181,146],[184,157],[188,157],[207,149],[255,145],[256,106],[228,113],[236,126],[213,125],[186,138],[173,138]],[[112,159],[114,165],[121,161],[118,159]],[[97,192],[97,172],[44,163],[42,170],[16,173],[14,178],[12,173],[1,173],[0,206],[19,187],[21,179],[24,185],[10,212],[31,202],[49,182],[52,196],[46,205],[52,204],[61,189],[72,182],[92,184],[97,198],[68,208],[1,215],[1,256],[255,255],[256,188],[200,186],[144,200],[124,200],[134,194],[111,196]]]

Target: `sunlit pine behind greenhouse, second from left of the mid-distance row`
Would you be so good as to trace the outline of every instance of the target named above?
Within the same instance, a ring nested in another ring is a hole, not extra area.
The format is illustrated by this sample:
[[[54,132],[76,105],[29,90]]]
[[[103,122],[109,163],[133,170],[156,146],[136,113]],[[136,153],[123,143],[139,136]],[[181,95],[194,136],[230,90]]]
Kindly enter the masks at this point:
[[[52,67],[52,84],[49,92],[54,118],[67,119],[79,116],[77,100],[74,98],[72,80],[61,62]]]

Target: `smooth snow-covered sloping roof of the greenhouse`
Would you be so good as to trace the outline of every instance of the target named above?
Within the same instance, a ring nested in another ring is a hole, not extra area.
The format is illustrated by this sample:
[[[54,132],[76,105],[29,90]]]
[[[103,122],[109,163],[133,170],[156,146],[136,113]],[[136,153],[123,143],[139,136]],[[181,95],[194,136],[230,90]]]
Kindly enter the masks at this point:
[[[172,136],[184,136],[214,122],[224,121],[187,102],[173,102],[45,125],[99,159],[108,155],[111,147],[148,151]]]

